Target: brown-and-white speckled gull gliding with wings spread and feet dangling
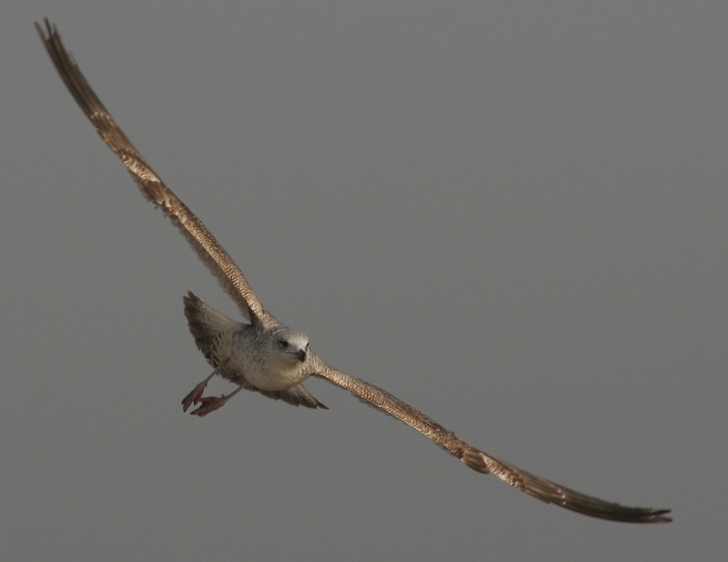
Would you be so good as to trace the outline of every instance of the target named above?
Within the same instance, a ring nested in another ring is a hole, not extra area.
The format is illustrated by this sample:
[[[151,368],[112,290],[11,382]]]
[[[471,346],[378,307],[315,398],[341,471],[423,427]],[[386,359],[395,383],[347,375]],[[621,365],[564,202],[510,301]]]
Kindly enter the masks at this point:
[[[66,83],[76,103],[81,106],[96,131],[116,156],[121,158],[136,181],[142,195],[171,219],[187,238],[212,274],[217,277],[248,323],[239,323],[207,305],[197,296],[184,297],[187,324],[199,350],[214,370],[182,400],[185,411],[197,406],[192,414],[207,416],[224,406],[241,389],[284,400],[294,406],[326,408],[303,386],[310,376],[323,378],[348,390],[361,401],[393,416],[429,437],[450,455],[473,470],[499,477],[541,501],[566,507],[591,517],[628,523],[664,523],[671,521],[669,509],[625,507],[603,501],[532,475],[499,458],[470,446],[419,410],[369,384],[329,366],[308,346],[308,337],[292,330],[271,315],[258,300],[243,272],[217,243],[207,227],[165,186],[157,173],[131,144],[106,107],[98,99],[76,62],[66,52],[55,25],[45,19],[45,29],[35,23],[45,49],[58,74]],[[202,396],[207,382],[215,375],[238,385],[227,396]],[[328,408],[327,408],[328,409]]]

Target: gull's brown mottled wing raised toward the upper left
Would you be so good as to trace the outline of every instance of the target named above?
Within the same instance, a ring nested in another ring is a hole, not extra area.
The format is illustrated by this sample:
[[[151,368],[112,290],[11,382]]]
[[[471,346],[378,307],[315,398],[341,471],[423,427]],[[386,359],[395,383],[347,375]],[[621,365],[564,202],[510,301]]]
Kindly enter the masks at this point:
[[[35,23],[45,49],[48,51],[58,74],[81,106],[96,131],[104,139],[106,145],[121,158],[124,166],[136,181],[142,194],[155,206],[158,206],[187,238],[197,256],[209,267],[212,275],[217,277],[220,285],[238,305],[240,312],[248,321],[263,326],[277,324],[277,320],[268,313],[258,300],[258,296],[248,283],[248,279],[240,271],[225,249],[219,245],[207,227],[180,201],[172,190],[165,186],[136,147],[131,144],[114,118],[106,111],[106,107],[98,99],[94,90],[86,82],[73,57],[64,47],[61,36],[55,25],[45,18],[45,30]],[[47,33],[46,33],[47,30]]]

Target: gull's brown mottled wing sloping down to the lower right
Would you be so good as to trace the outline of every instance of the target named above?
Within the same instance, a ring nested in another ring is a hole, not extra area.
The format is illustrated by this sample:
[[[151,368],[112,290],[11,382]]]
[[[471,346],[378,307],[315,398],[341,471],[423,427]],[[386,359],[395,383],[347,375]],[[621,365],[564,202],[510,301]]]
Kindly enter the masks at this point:
[[[327,365],[321,359],[317,376],[328,380],[336,386],[349,390],[363,402],[374,406],[396,417],[399,421],[416,429],[425,437],[429,437],[437,445],[455,457],[460,458],[468,467],[483,474],[492,474],[501,478],[506,484],[517,487],[533,497],[550,504],[566,507],[591,517],[624,521],[626,523],[666,523],[672,521],[664,514],[670,509],[652,509],[650,507],[625,507],[620,504],[606,502],[597,497],[587,496],[568,487],[563,487],[536,475],[532,475],[519,467],[490,457],[460,439],[451,431],[440,426],[435,420],[422,414],[419,410],[405,404],[378,386],[370,385],[359,378],[347,375]]]

